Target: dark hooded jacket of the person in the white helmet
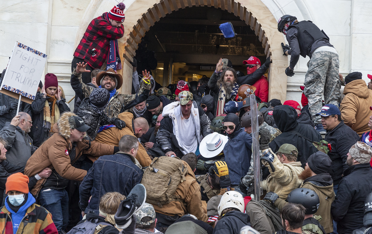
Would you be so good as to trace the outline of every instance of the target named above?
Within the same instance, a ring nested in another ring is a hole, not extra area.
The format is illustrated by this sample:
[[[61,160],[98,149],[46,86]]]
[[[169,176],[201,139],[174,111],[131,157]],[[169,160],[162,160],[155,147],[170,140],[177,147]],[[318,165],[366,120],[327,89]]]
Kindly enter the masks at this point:
[[[240,229],[249,224],[249,215],[240,211],[230,211],[219,220],[213,234],[239,234]]]

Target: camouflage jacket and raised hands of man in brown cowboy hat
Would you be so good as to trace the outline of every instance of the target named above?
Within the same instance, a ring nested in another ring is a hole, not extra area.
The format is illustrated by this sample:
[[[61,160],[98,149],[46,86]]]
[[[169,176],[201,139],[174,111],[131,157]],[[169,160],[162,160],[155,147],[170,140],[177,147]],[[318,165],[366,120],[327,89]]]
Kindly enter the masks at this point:
[[[86,84],[81,79],[81,74],[82,73],[76,73],[76,69],[74,69],[72,75],[75,75],[78,77],[79,82],[81,83],[81,89],[83,92],[83,98],[89,97],[90,93],[93,90],[93,87],[90,87]],[[140,90],[138,91],[138,95],[142,94],[144,90],[150,90],[150,85],[145,84],[145,82],[141,83]],[[122,103],[120,102],[118,95],[120,95],[124,103],[123,105],[129,104],[131,101],[133,101],[136,97],[136,94],[121,94],[118,91],[116,91],[115,95],[113,95],[112,98],[110,98],[109,104],[106,107],[106,114],[109,118],[118,118],[118,114],[121,113],[122,110]]]

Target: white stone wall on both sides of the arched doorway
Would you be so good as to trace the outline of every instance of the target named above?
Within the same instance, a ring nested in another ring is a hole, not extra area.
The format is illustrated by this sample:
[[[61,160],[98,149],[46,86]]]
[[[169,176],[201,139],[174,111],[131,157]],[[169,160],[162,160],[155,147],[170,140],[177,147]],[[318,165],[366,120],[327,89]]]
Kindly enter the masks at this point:
[[[135,0],[124,0],[131,10]],[[66,99],[74,92],[70,86],[73,52],[94,17],[107,12],[117,0],[2,0],[0,7],[0,69],[7,65],[16,41],[48,55],[45,73],[57,75]],[[363,79],[372,74],[371,0],[262,0],[279,19],[291,14],[298,20],[311,20],[330,37],[339,52],[340,73],[360,71]],[[129,32],[128,32],[129,33]],[[289,59],[289,58],[288,58]],[[288,77],[287,99],[300,103],[308,58],[300,58],[295,75]],[[42,79],[44,80],[44,78]],[[71,108],[72,109],[72,108]]]

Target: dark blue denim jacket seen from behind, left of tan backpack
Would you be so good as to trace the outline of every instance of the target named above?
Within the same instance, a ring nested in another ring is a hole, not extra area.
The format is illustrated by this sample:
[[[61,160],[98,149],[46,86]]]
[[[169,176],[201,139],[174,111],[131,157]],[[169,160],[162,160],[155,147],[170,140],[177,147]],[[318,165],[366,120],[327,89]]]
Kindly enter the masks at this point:
[[[85,213],[99,214],[100,198],[107,192],[128,196],[141,182],[143,171],[134,164],[134,158],[124,152],[98,158],[81,182],[79,206]],[[90,202],[89,197],[92,195]]]

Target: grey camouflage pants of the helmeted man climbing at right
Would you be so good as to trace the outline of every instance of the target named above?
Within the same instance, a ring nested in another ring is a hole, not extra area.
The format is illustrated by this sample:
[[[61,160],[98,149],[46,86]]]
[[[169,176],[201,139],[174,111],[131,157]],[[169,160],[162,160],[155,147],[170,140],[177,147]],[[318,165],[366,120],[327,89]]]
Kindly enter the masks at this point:
[[[311,119],[321,123],[321,117],[315,116],[324,104],[339,106],[341,81],[339,78],[339,55],[329,51],[320,51],[312,55],[305,75],[304,94],[309,100]]]

